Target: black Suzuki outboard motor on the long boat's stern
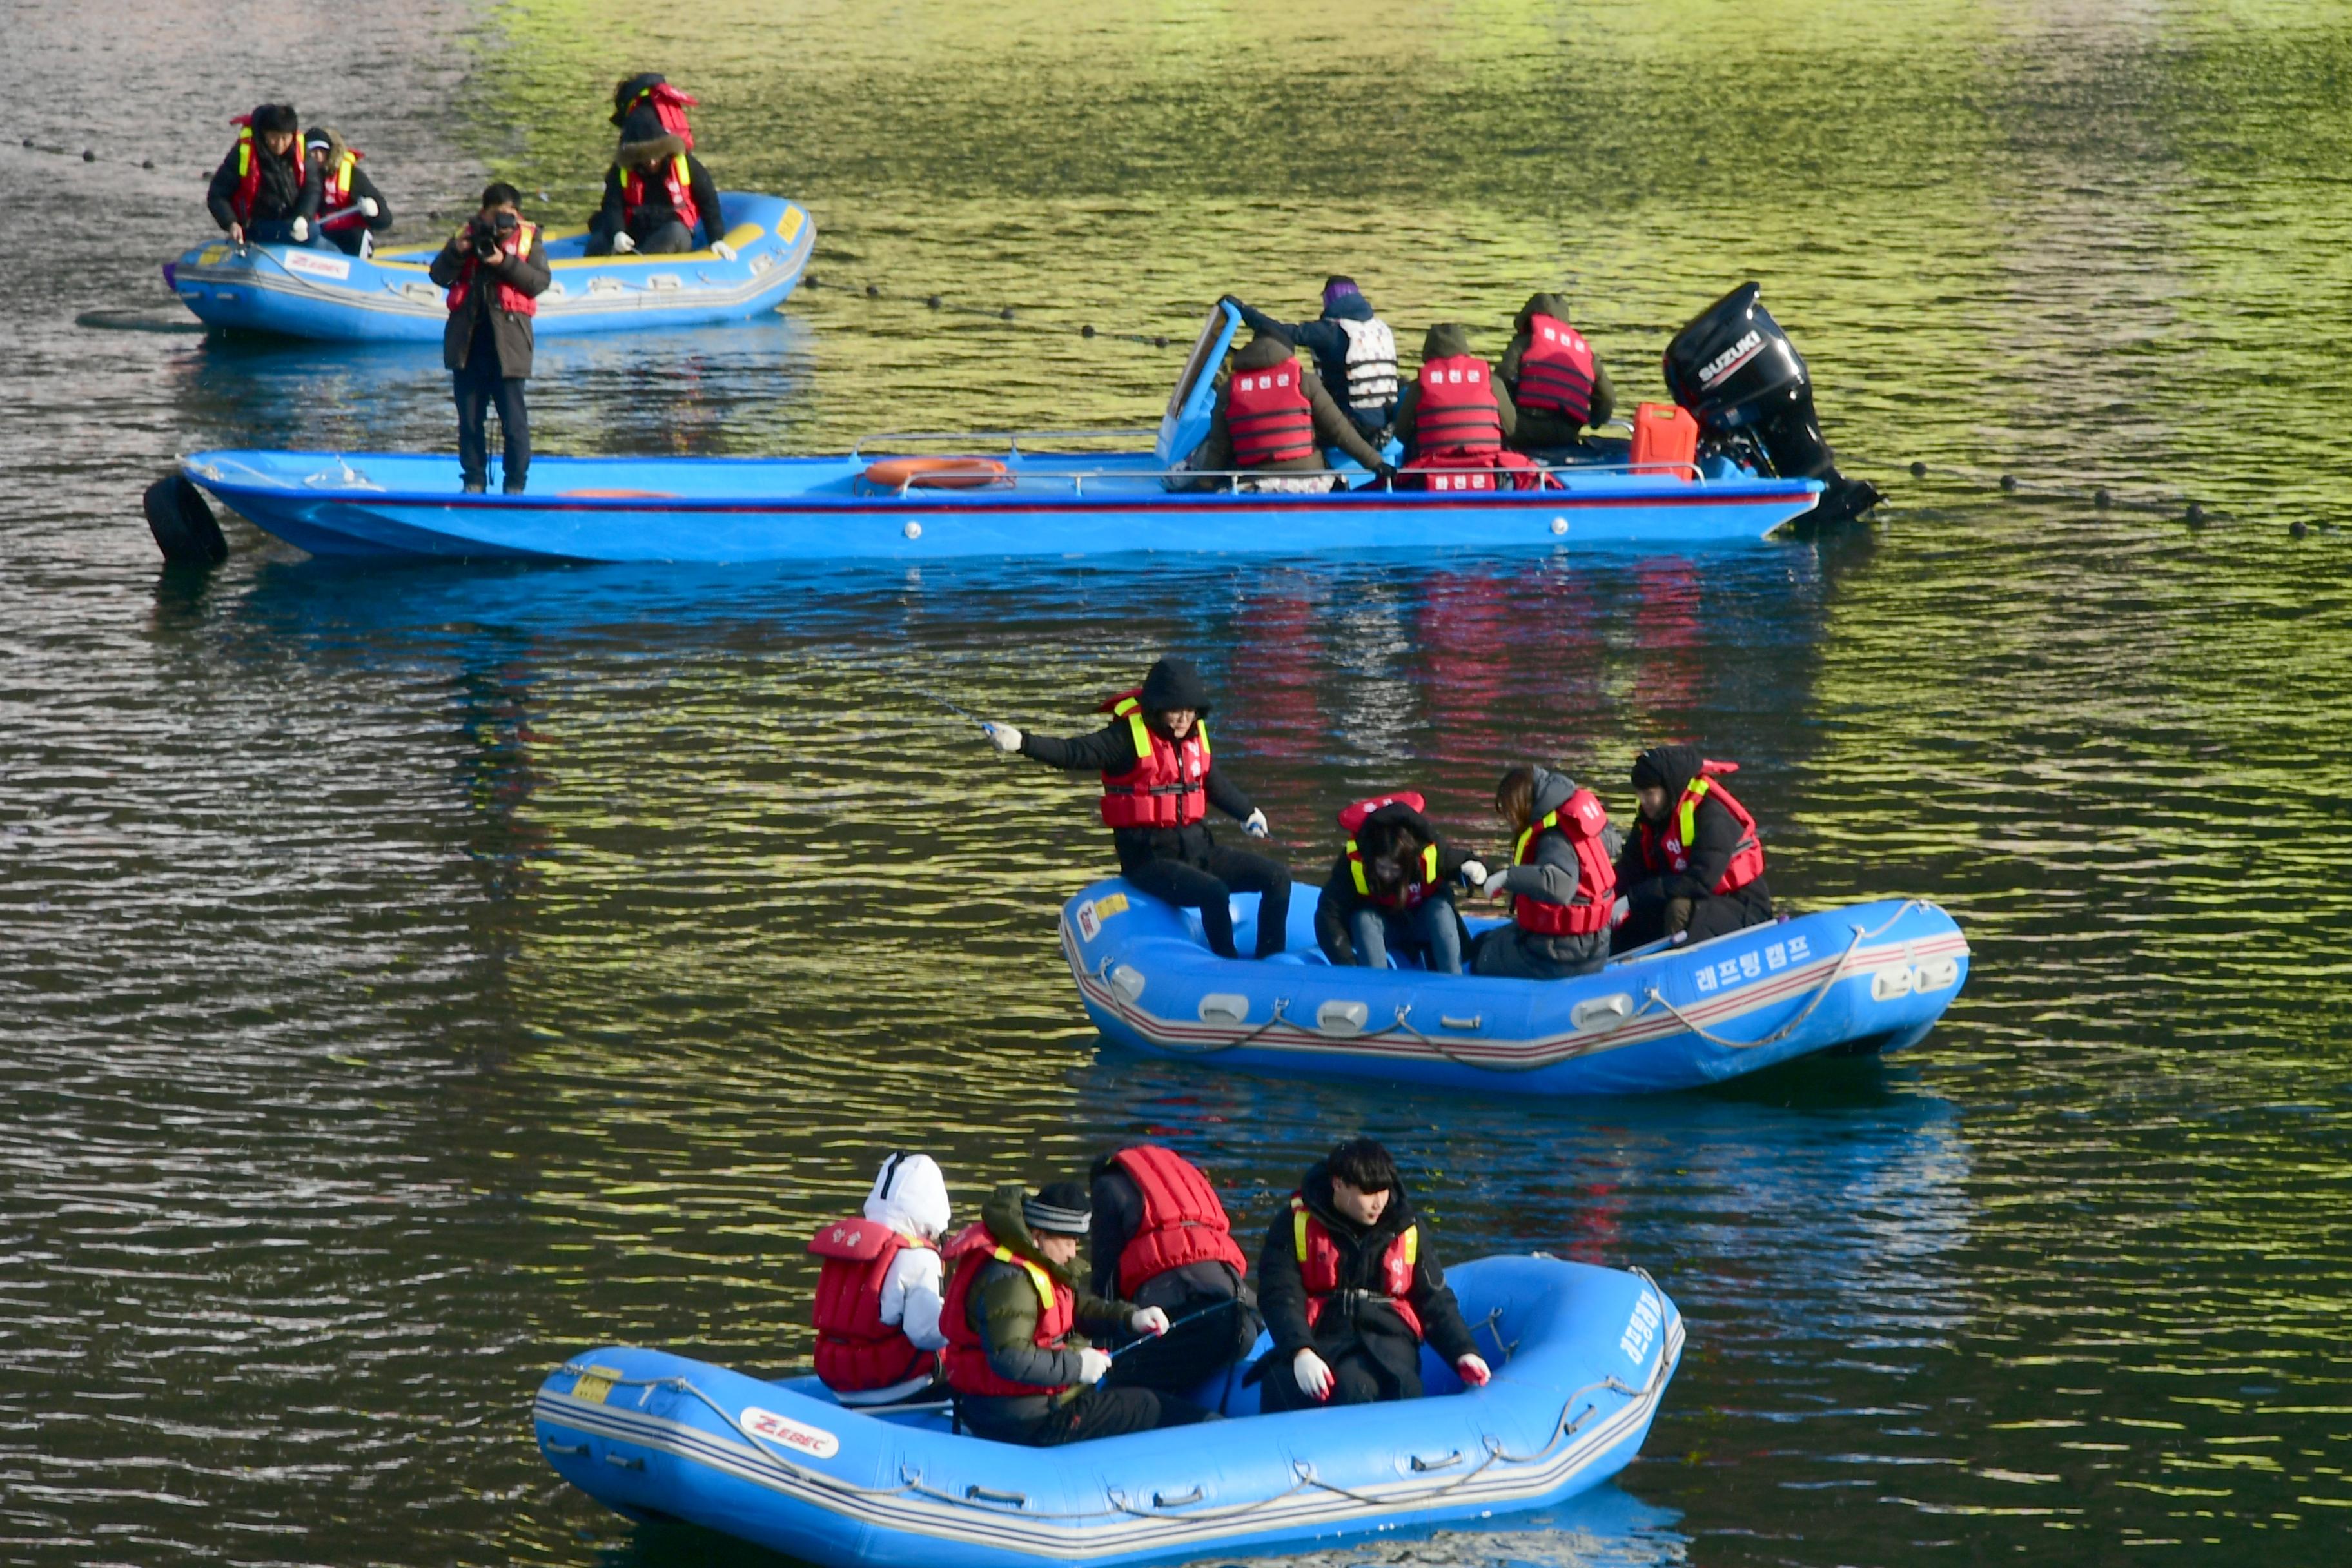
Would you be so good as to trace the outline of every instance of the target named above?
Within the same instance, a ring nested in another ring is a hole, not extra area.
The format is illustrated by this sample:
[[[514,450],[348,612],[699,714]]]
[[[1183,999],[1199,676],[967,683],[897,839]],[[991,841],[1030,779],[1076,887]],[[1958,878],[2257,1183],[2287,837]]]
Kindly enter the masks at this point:
[[[1717,451],[1745,456],[1785,480],[1820,480],[1820,503],[1799,522],[1851,522],[1879,503],[1879,491],[1837,473],[1813,416],[1813,381],[1804,355],[1743,282],[1708,306],[1665,346],[1665,388],[1698,418]]]

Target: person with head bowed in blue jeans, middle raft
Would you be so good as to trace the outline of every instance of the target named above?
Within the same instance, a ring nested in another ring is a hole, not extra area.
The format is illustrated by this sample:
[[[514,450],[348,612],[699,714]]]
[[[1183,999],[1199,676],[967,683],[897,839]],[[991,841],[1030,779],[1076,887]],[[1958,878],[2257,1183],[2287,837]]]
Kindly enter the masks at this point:
[[[1338,813],[1348,842],[1315,903],[1315,940],[1341,969],[1388,969],[1395,952],[1430,973],[1463,971],[1468,940],[1454,886],[1484,886],[1486,865],[1446,844],[1421,809],[1421,795],[1397,790]]]

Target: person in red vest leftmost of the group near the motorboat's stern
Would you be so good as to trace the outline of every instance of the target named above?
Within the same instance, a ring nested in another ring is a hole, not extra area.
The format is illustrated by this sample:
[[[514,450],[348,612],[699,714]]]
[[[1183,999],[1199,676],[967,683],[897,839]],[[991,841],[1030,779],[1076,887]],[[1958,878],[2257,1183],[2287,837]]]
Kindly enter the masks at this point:
[[[1216,388],[1209,435],[1185,458],[1197,477],[1176,480],[1171,489],[1319,494],[1338,484],[1324,463],[1324,447],[1338,447],[1367,473],[1395,473],[1331,402],[1322,376],[1298,362],[1291,341],[1279,331],[1258,331],[1232,357],[1232,374]],[[1225,477],[1235,470],[1244,477]]]

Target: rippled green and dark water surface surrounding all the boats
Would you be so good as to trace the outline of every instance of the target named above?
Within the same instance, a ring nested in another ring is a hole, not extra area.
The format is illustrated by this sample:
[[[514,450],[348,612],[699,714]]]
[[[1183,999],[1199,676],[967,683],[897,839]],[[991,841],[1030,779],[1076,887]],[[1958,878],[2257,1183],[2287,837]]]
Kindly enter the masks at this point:
[[[1449,1255],[1642,1265],[1691,1324],[1621,1488],[1378,1561],[2345,1561],[2347,7],[0,24],[19,134],[68,148],[0,148],[7,1561],[755,1561],[557,1486],[541,1373],[790,1368],[802,1237],[891,1147],[969,1211],[1148,1131],[1256,1222],[1357,1128]],[[722,183],[811,207],[821,287],[550,346],[543,451],[1148,423],[1181,346],[1077,324],[1305,313],[1327,270],[1489,353],[1566,284],[1656,395],[1755,275],[1893,505],[1700,559],[840,574],[348,571],[233,522],[162,574],[174,451],[449,435],[433,353],[73,324],[167,303],[223,120],[334,120],[407,237],[487,174],[576,219],[644,66]],[[1112,1053],[1054,945],[1087,790],[917,689],[1077,729],[1160,649],[1310,877],[1350,792],[1491,839],[1503,762],[1623,811],[1689,736],[1743,759],[1776,891],[1936,898],[1976,973],[1907,1058],[1642,1103]]]

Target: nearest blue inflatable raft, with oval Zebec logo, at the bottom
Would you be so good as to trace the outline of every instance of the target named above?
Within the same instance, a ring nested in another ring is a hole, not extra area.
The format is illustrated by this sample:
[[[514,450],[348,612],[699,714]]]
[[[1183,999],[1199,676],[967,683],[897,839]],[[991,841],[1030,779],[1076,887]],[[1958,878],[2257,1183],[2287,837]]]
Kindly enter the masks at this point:
[[[938,1408],[847,1410],[659,1349],[574,1356],[541,1387],[541,1453],[630,1519],[684,1519],[828,1568],[1160,1563],[1331,1544],[1557,1505],[1642,1448],[1682,1356],[1646,1274],[1559,1258],[1446,1272],[1494,1363],[1463,1389],[1423,1349],[1428,1396],[1258,1415],[1068,1448],[960,1436]],[[1263,1335],[1258,1340],[1265,1345]]]

